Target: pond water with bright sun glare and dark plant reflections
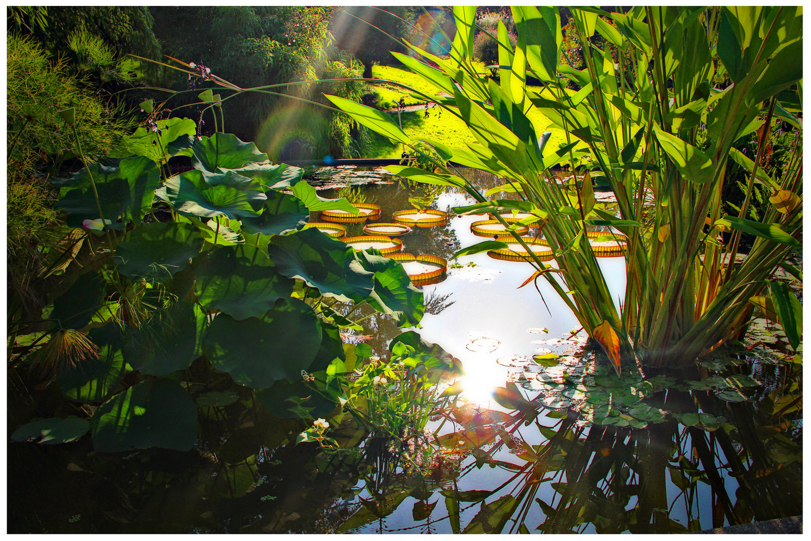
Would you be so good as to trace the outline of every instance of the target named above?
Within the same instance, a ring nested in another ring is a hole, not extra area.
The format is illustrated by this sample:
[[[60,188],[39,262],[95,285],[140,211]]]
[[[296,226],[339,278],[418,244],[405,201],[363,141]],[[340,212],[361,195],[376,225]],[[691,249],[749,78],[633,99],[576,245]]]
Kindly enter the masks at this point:
[[[463,174],[479,187],[497,183]],[[320,195],[378,204],[380,222],[405,208],[473,202],[450,188],[378,180]],[[403,251],[451,265],[421,286],[427,313],[413,330],[465,371],[460,400],[431,411],[425,434],[372,437],[345,416],[329,432],[341,450],[295,445],[303,423],[277,419],[250,393],[214,389],[219,401],[202,408],[190,453],[97,454],[87,438],[11,444],[8,530],[676,533],[802,513],[801,365],[780,353],[774,328],[758,322],[760,334],[694,372],[620,378],[584,348],[585,333],[543,279],[537,290],[519,287],[528,264],[449,260],[486,240],[470,230],[482,218],[453,216],[400,237]],[[346,234],[363,234],[363,224]],[[599,264],[622,298],[624,259]],[[374,362],[404,330],[370,316],[342,338],[367,344]]]

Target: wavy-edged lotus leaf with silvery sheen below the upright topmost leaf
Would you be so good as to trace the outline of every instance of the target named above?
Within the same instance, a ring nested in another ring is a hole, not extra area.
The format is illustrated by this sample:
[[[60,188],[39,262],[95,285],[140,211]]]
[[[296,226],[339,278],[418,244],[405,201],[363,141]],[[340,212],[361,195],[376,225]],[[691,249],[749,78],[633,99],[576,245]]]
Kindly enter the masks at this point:
[[[264,193],[251,187],[251,183],[238,182],[233,174],[230,182],[225,182],[225,176],[217,175],[213,180],[223,182],[212,186],[206,182],[202,171],[187,171],[169,178],[157,191],[157,197],[172,205],[175,212],[187,216],[211,218],[224,215],[232,220],[258,217],[254,207],[264,204],[267,199]]]

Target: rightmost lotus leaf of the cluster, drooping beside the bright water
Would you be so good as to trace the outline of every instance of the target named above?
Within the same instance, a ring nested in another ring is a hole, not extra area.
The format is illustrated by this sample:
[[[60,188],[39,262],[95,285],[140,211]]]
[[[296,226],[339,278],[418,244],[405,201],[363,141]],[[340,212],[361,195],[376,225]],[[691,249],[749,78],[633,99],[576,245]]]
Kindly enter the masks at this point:
[[[375,287],[369,295],[371,307],[392,316],[398,327],[419,324],[425,315],[423,292],[411,284],[402,265],[364,252],[358,252],[355,258],[363,268],[375,272]]]

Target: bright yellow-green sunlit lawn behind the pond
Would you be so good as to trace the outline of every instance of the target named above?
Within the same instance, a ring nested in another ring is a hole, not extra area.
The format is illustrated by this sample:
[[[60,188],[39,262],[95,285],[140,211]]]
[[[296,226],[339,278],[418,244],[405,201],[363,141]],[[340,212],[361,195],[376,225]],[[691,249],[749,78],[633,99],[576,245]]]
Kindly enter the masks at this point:
[[[481,62],[479,62],[481,63]],[[480,71],[484,71],[484,64],[482,63]],[[419,90],[429,96],[436,96],[436,88],[419,75],[415,75],[410,71],[401,70],[397,67],[390,66],[375,66],[372,67],[372,75],[375,79],[388,79],[402,84],[407,84],[411,88]],[[424,99],[417,99],[411,97],[408,92],[404,90],[395,90],[395,87],[387,85],[375,85],[375,91],[380,92],[381,105],[384,108],[393,106],[393,102],[399,101],[401,97],[405,97],[405,105],[416,105],[425,103]],[[528,87],[530,90],[539,92],[540,87]],[[428,109],[429,116],[424,118],[424,111],[420,109],[410,113],[402,114],[402,128],[411,139],[430,139],[437,143],[444,144],[450,148],[465,148],[466,143],[474,143],[476,141],[473,133],[468,130],[465,122],[460,118],[451,114],[448,111],[443,111],[441,116],[439,114],[440,107],[432,107]],[[547,127],[551,124],[549,118],[542,114],[538,109],[531,109],[528,114],[530,121],[535,127],[535,131],[540,136]],[[392,114],[394,122],[397,122],[397,114]],[[565,136],[559,130],[552,129],[549,145],[551,148],[557,148],[559,144],[565,142]],[[392,144],[387,138],[382,135],[371,133],[370,147],[364,152],[363,157],[367,158],[399,158],[402,153],[401,144]]]

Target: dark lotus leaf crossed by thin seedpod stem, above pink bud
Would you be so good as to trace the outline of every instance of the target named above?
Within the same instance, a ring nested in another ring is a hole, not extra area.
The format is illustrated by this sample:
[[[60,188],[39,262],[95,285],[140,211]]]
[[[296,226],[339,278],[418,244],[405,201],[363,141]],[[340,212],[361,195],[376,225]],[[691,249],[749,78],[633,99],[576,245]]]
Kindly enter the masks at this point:
[[[114,161],[113,165],[90,165],[93,181],[105,220],[122,218],[139,224],[152,208],[155,189],[161,182],[161,172],[147,157],[131,157]],[[54,208],[67,213],[67,225],[81,227],[84,220],[99,218],[96,198],[88,171],[83,169],[68,178],[54,178],[59,187],[59,200]]]

